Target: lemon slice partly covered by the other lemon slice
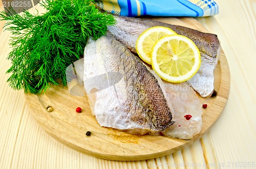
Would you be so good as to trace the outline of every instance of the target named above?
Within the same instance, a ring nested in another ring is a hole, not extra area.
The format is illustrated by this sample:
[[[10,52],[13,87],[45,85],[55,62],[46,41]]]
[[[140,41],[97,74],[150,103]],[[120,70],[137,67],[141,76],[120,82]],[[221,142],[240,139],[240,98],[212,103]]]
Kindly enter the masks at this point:
[[[152,27],[145,30],[136,41],[137,54],[144,62],[151,64],[151,53],[156,42],[166,35],[173,34],[176,33],[166,27]]]

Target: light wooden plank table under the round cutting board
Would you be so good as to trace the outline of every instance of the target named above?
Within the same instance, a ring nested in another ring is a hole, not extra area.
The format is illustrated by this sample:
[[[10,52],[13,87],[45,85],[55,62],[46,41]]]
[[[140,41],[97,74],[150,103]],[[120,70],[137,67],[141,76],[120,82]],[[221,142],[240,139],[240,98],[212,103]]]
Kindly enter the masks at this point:
[[[197,20],[218,35],[226,54],[231,74],[227,105],[200,140],[143,161],[94,158],[63,146],[42,130],[31,116],[24,92],[14,91],[6,82],[10,34],[3,32],[5,21],[0,21],[0,168],[256,168],[256,1],[216,2],[218,15]]]

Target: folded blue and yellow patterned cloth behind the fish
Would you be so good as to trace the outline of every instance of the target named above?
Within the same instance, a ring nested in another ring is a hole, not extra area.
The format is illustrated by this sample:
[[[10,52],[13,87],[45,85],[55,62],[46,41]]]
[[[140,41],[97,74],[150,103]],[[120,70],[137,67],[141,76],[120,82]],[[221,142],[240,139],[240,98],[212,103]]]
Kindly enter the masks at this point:
[[[122,16],[211,16],[219,13],[213,0],[95,0],[96,5]]]

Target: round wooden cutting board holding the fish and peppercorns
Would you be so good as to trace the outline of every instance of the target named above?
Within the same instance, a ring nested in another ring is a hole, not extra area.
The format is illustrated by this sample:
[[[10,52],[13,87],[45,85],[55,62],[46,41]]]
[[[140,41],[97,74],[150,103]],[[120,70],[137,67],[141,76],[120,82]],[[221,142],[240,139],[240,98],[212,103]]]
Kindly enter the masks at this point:
[[[174,25],[186,26],[202,32],[205,28],[194,18],[153,18]],[[201,132],[190,140],[166,136],[137,136],[100,127],[91,114],[87,96],[74,96],[62,85],[52,86],[44,95],[26,94],[27,104],[38,124],[56,140],[79,152],[110,160],[144,160],[174,153],[201,138],[217,121],[228,99],[229,67],[223,51],[215,69],[214,98],[200,98],[208,105],[203,109]],[[50,105],[52,112],[46,107]],[[81,107],[82,112],[76,113]],[[91,131],[91,136],[86,132]]]

